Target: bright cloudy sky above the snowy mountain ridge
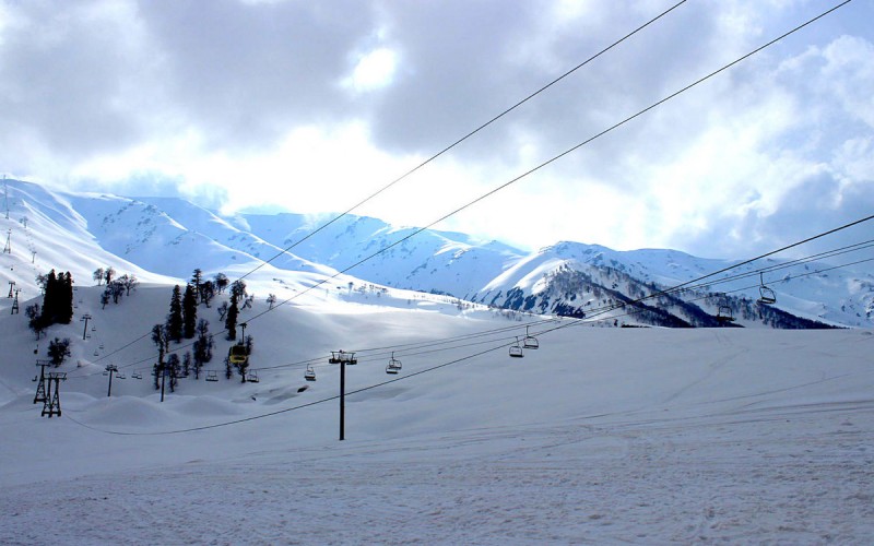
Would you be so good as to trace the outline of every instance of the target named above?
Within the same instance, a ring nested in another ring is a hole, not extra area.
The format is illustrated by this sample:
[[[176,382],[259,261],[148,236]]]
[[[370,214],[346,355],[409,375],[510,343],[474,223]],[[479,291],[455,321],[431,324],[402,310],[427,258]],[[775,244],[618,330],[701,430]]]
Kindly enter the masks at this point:
[[[346,211],[676,1],[0,0],[0,173]],[[838,3],[687,0],[354,212],[428,225]],[[745,258],[867,216],[871,21],[852,1],[435,227]]]

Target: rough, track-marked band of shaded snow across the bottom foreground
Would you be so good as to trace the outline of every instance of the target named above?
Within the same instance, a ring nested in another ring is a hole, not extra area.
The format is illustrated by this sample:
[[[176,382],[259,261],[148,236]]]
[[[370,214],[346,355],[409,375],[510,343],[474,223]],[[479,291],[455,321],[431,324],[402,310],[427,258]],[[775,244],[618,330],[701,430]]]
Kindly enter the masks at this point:
[[[872,410],[582,419],[40,482],[5,489],[0,542],[867,544]]]

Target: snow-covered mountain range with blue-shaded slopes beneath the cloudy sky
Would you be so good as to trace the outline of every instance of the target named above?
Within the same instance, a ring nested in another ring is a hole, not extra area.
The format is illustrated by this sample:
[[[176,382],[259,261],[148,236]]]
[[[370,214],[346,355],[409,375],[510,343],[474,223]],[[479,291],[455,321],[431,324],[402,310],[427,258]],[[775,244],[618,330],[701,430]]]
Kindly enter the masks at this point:
[[[529,253],[433,229],[397,244],[416,228],[347,215],[318,230],[322,223],[302,214],[222,216],[182,199],[59,192],[17,180],[7,180],[7,191],[9,217],[0,215],[0,224],[12,248],[0,265],[31,297],[38,292],[35,274],[49,268],[90,280],[96,268],[113,265],[144,282],[178,283],[196,268],[233,277],[270,261],[276,270],[316,276],[358,264],[347,274],[367,283],[538,313],[600,316],[610,309],[606,318],[627,325],[717,325],[723,306],[734,325],[874,328],[874,274],[850,268],[818,272],[829,269],[823,263],[752,263],[631,308],[625,304],[733,262],[570,241]],[[755,302],[757,271],[764,268],[777,295],[773,306]]]

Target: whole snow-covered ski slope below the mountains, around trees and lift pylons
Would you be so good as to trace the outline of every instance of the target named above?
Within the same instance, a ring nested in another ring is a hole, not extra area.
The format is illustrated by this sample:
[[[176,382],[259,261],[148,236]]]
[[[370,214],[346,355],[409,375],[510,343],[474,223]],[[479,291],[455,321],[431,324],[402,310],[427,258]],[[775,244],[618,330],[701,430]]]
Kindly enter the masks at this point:
[[[247,281],[264,294],[275,272],[259,273]],[[151,361],[149,342],[118,349],[163,321],[170,288],[105,310],[99,288],[78,294],[97,330],[49,331],[74,342],[61,417],[33,404],[26,320],[0,317],[2,544],[874,537],[871,331],[597,328],[332,286],[244,311],[259,383],[182,379],[161,403],[147,370],[130,377]],[[217,304],[201,316],[217,323]],[[525,324],[541,348],[509,358]],[[359,364],[341,442],[327,356],[344,347]],[[397,377],[385,373],[392,349]],[[299,363],[314,357],[307,383]],[[128,372],[111,397],[109,361]],[[212,428],[185,431],[198,427]]]

